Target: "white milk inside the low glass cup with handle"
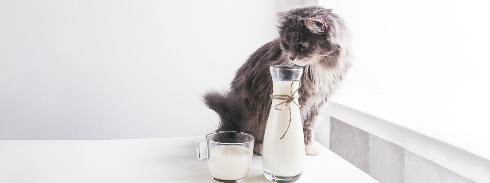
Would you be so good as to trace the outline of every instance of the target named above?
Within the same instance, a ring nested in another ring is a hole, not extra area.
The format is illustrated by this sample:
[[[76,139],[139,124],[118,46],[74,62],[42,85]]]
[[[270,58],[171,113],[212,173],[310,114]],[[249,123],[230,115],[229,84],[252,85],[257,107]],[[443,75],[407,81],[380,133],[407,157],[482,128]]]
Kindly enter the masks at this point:
[[[239,180],[248,175],[252,152],[241,145],[219,145],[211,148],[209,174],[221,180]]]

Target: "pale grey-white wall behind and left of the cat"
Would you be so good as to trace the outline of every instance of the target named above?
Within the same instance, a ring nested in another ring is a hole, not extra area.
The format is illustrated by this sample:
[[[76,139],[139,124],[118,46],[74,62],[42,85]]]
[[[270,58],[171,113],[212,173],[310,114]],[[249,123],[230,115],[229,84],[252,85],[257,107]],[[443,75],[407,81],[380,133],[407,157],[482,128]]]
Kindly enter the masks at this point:
[[[276,38],[273,12],[286,8],[279,0],[0,1],[0,140],[211,132],[218,118],[200,95],[228,88],[248,55]]]

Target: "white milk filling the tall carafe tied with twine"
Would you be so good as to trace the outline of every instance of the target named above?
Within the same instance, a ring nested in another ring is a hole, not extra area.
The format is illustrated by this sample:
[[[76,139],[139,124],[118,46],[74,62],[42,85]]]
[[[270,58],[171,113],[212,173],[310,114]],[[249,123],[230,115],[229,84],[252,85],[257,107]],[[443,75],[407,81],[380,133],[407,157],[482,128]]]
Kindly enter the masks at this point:
[[[291,95],[292,81],[274,81],[274,95]],[[294,82],[293,89],[298,87]],[[294,92],[293,90],[293,92]],[[297,95],[297,92],[296,92]],[[284,139],[280,140],[289,124],[289,110],[275,110],[277,103],[282,100],[272,99],[269,119],[267,121],[264,144],[262,147],[262,167],[267,172],[278,176],[295,176],[303,171],[305,157],[305,144],[303,124],[299,114],[299,107],[291,102],[292,121]],[[298,103],[297,99],[295,102]],[[284,104],[278,106],[280,109]]]

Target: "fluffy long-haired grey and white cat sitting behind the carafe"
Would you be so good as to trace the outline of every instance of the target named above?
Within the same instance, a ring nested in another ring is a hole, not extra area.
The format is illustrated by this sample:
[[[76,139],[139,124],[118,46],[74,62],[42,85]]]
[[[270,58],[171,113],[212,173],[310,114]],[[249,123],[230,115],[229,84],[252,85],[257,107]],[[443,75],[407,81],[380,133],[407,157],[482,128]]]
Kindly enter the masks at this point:
[[[299,89],[305,151],[320,154],[314,142],[319,112],[339,88],[351,65],[349,35],[343,20],[331,9],[319,6],[293,8],[277,13],[279,38],[263,45],[236,72],[231,91],[204,94],[206,105],[221,118],[218,131],[240,131],[255,137],[254,153],[262,154],[262,142],[270,112],[271,65],[304,68]]]

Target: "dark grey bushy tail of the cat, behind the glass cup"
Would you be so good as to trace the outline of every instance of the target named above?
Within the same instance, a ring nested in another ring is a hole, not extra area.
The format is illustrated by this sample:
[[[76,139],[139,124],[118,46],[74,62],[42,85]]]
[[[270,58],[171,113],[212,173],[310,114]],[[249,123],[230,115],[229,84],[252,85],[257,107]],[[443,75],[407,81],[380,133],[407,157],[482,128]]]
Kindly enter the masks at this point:
[[[243,100],[233,92],[207,91],[203,95],[204,103],[220,116],[218,131],[241,131],[240,123],[247,118],[247,109]]]

